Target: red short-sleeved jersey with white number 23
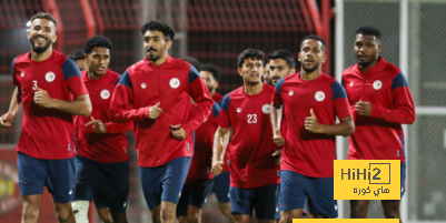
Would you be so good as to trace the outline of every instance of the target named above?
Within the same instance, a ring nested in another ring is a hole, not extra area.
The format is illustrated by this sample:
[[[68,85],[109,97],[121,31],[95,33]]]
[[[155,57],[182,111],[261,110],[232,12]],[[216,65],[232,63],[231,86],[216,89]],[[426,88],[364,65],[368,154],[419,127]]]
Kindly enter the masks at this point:
[[[264,84],[256,95],[248,95],[244,87],[227,94],[221,102],[219,126],[234,129],[230,152],[230,186],[259,187],[280,183],[279,166],[271,153],[271,95],[274,88]]]

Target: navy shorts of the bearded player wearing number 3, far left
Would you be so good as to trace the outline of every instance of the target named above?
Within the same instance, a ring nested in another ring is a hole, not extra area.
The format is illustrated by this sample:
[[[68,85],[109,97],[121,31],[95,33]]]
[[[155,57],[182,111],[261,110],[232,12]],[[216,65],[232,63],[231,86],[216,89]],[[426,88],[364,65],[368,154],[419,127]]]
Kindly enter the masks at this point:
[[[68,203],[75,190],[75,159],[42,160],[17,154],[21,196],[42,194],[43,186],[58,203]]]

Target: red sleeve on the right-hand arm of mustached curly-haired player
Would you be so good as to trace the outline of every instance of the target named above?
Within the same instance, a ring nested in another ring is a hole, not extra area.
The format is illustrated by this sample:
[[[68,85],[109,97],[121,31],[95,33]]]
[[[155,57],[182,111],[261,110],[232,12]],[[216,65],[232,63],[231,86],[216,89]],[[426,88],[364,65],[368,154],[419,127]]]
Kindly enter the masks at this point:
[[[188,122],[181,124],[186,135],[197,130],[197,128],[208,118],[212,110],[214,101],[205,81],[200,78],[197,69],[190,65],[189,83],[187,92],[195,101],[195,109]]]

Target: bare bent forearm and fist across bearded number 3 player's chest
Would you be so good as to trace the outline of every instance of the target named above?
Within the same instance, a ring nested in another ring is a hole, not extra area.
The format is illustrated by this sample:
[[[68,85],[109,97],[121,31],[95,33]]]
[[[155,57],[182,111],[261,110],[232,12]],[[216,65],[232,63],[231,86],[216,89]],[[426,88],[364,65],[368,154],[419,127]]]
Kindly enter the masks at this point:
[[[36,90],[34,102],[38,105],[56,109],[75,115],[88,116],[91,113],[91,101],[88,94],[77,95],[73,101],[65,101],[51,98],[43,89],[37,88]]]

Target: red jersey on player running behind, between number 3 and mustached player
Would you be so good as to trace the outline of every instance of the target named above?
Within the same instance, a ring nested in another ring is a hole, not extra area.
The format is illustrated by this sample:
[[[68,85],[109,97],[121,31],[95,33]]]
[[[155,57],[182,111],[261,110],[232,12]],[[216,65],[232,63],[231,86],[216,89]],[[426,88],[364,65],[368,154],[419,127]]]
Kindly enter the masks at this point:
[[[108,118],[111,94],[119,74],[107,69],[106,74],[97,80],[88,78],[88,71],[81,72],[82,81],[90,94],[92,111],[90,116],[78,115],[75,122],[77,126],[76,151],[80,156],[96,162],[117,163],[129,159],[126,132],[133,129],[132,122],[113,123]],[[96,133],[88,122],[101,120],[107,128],[107,133]]]

